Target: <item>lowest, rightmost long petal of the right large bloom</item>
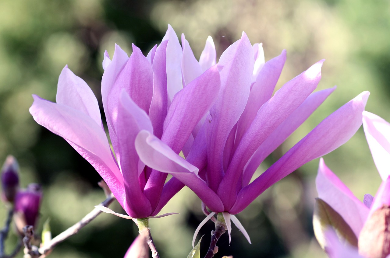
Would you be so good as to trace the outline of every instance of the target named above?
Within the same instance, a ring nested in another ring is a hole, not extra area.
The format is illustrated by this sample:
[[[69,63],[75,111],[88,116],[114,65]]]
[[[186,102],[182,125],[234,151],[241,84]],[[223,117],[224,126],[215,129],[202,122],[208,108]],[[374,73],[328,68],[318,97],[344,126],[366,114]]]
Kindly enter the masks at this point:
[[[241,189],[231,214],[236,214],[251,203],[269,186],[275,184],[303,164],[321,157],[346,143],[362,124],[362,112],[369,92],[362,92],[325,118],[307,136],[262,173],[251,184]]]

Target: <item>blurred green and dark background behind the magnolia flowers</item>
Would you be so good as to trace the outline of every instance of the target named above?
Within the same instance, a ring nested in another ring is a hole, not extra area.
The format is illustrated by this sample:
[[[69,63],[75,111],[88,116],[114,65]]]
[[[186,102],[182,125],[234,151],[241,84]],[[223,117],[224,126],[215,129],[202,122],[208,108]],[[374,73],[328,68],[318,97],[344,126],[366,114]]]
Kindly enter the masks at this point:
[[[101,62],[105,49],[131,43],[144,53],[161,41],[170,23],[184,33],[199,57],[208,35],[218,55],[245,31],[252,44],[263,42],[266,60],[287,49],[278,87],[325,58],[318,89],[337,90],[259,168],[264,171],[316,124],[363,90],[366,110],[390,120],[390,2],[388,0],[2,0],[0,1],[0,159],[14,155],[21,186],[43,185],[40,232],[51,219],[53,235],[76,223],[104,200],[98,173],[66,141],[37,125],[28,108],[31,94],[55,100],[57,80],[67,64],[92,88],[101,104]],[[103,118],[104,120],[104,118]],[[375,194],[380,178],[363,130],[324,157],[328,166],[360,199]],[[311,226],[317,196],[312,161],[268,189],[238,217],[252,239],[233,227],[232,246],[223,236],[215,257],[325,257]],[[122,212],[117,203],[110,206]],[[179,215],[152,219],[161,258],[186,257],[192,234],[204,218],[200,201],[183,189],[161,212]],[[0,205],[0,225],[6,210]],[[213,223],[202,229],[207,249]],[[137,234],[132,221],[101,214],[51,257],[122,257]],[[7,250],[14,245],[12,233]],[[22,257],[20,254],[18,257]]]

